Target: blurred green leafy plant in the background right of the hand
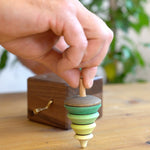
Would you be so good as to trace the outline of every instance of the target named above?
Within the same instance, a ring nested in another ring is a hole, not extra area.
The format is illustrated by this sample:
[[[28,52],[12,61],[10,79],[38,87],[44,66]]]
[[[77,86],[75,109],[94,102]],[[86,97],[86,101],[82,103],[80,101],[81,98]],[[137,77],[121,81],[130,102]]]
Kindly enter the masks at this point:
[[[125,82],[137,66],[144,67],[136,43],[128,36],[129,30],[137,34],[149,26],[149,15],[144,9],[147,0],[80,0],[89,10],[100,16],[114,32],[114,39],[102,66],[107,82]],[[121,31],[121,35],[118,32]],[[150,46],[150,44],[145,44]],[[120,69],[121,67],[121,69]]]

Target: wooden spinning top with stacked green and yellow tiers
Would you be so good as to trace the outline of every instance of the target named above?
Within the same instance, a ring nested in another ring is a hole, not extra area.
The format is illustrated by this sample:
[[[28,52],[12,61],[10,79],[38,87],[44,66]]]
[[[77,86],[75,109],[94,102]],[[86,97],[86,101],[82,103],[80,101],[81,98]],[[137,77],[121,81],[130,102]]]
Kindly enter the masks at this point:
[[[86,95],[86,90],[80,79],[80,96],[67,98],[64,102],[68,110],[68,118],[72,121],[71,127],[75,131],[75,138],[79,140],[82,148],[87,146],[93,138],[92,131],[96,127],[95,120],[99,116],[98,109],[101,100],[92,95]]]

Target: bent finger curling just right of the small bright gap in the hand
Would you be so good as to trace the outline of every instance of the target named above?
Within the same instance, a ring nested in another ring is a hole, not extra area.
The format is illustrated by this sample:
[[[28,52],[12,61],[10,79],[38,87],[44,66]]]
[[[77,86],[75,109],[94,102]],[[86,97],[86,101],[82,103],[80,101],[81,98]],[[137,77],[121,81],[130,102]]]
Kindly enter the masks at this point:
[[[77,68],[82,61],[87,48],[87,39],[76,16],[70,16],[64,23],[63,36],[69,45],[58,62],[57,69],[64,72]]]

